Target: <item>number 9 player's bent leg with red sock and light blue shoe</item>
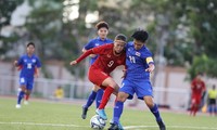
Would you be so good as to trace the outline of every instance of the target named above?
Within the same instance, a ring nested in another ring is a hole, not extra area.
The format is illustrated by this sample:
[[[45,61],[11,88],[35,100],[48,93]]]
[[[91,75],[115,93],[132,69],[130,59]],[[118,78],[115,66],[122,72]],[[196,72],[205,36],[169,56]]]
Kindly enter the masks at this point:
[[[106,89],[104,90],[103,96],[102,96],[102,101],[100,103],[100,106],[98,107],[98,109],[95,110],[98,115],[100,115],[101,118],[103,119],[107,119],[106,114],[104,112],[104,107],[107,104],[110,96],[112,93],[114,93],[114,91],[118,90],[116,88],[119,88],[118,84],[114,81],[113,78],[107,77],[103,82],[102,82],[103,87],[106,87]]]

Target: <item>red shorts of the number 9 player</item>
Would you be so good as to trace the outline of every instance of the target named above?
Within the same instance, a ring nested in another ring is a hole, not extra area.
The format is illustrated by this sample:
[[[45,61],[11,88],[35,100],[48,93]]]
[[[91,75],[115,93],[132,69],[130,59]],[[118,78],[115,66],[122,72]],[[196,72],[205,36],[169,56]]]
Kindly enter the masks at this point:
[[[105,74],[104,72],[102,72],[101,69],[95,69],[93,67],[89,68],[89,74],[88,74],[88,78],[89,80],[99,86],[101,89],[105,89],[106,87],[102,86],[102,82],[110,77],[108,74]]]

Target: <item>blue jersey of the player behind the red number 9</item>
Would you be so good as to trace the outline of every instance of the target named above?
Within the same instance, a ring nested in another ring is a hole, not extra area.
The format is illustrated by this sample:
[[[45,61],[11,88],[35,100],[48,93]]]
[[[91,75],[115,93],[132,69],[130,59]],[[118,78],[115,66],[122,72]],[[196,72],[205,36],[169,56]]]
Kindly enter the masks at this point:
[[[95,48],[98,46],[102,46],[105,43],[113,43],[113,40],[107,39],[107,38],[105,40],[102,40],[102,39],[100,39],[100,37],[98,37],[95,39],[90,40],[84,48],[86,50],[89,50],[89,49],[92,49],[92,48]],[[98,56],[91,57],[90,64],[92,64],[97,58],[98,58]]]

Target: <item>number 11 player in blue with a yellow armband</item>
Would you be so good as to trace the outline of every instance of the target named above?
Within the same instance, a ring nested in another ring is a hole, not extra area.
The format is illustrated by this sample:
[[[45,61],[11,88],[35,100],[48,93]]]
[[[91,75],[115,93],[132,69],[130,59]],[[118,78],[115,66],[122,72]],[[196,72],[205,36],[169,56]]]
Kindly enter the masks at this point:
[[[119,130],[118,123],[123,113],[124,102],[131,100],[136,93],[138,99],[143,100],[159,126],[159,130],[166,130],[166,127],[159,115],[157,105],[153,102],[153,90],[150,82],[150,73],[154,70],[152,53],[145,47],[149,37],[148,32],[138,29],[132,36],[133,41],[126,46],[126,74],[119,89],[114,106],[113,123],[108,130]]]

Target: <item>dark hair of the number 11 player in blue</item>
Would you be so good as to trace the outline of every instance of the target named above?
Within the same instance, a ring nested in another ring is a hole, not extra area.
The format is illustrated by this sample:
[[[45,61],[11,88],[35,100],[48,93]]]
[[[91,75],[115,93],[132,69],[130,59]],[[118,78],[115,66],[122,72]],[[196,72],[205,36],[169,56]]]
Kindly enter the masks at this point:
[[[149,34],[145,30],[139,28],[132,34],[131,37],[141,42],[145,42],[149,38]]]

